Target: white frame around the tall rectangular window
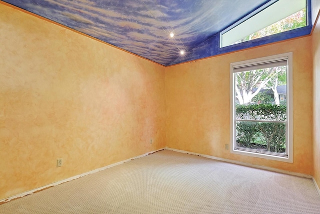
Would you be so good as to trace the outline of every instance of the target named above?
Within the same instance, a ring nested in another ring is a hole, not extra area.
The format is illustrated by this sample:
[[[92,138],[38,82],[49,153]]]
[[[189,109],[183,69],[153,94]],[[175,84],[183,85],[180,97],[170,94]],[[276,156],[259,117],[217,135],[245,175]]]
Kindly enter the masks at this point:
[[[257,59],[251,59],[241,62],[230,63],[230,152],[233,154],[247,155],[252,157],[259,157],[270,160],[278,160],[283,162],[293,162],[293,120],[292,120],[292,52],[278,54],[268,57],[262,57]],[[235,93],[234,93],[234,72],[233,68],[246,67],[250,65],[262,64],[267,62],[274,62],[278,60],[287,59],[288,68],[287,68],[287,118],[286,118],[286,151],[288,156],[281,157],[271,154],[261,154],[251,151],[242,151],[236,150],[236,141],[235,141]]]

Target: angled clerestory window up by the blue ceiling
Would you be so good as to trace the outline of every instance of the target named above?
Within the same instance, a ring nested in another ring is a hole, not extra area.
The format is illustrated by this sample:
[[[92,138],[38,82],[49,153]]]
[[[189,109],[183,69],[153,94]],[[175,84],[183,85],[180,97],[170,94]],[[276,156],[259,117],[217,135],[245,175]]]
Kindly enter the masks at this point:
[[[270,1],[220,34],[220,47],[306,26],[305,0]]]

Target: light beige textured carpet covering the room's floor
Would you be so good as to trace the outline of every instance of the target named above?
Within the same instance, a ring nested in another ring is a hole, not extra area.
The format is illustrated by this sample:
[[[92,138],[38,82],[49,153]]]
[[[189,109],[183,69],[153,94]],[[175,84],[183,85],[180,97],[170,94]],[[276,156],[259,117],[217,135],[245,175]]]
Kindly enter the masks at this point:
[[[311,179],[169,150],[0,205],[0,213],[320,213]]]

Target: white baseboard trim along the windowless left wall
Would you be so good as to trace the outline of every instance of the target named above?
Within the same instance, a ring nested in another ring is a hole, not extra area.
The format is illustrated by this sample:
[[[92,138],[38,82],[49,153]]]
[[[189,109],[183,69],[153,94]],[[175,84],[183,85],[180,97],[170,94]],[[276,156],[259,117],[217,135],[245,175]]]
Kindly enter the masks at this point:
[[[102,171],[102,170],[104,170],[104,169],[108,169],[108,168],[111,168],[111,167],[113,167],[113,166],[120,165],[120,164],[122,164],[122,163],[131,161],[131,160],[134,160],[134,159],[137,159],[137,158],[140,158],[140,157],[147,156],[147,155],[149,155],[149,154],[152,154],[152,153],[154,153],[154,152],[161,151],[161,150],[164,150],[164,149],[165,149],[165,148],[161,148],[161,149],[158,149],[158,150],[150,151],[150,152],[147,152],[147,153],[145,153],[145,154],[141,154],[141,155],[136,156],[136,157],[132,157],[132,158],[129,158],[129,159],[126,159],[126,160],[117,162],[117,163],[113,163],[113,164],[110,164],[110,165],[107,165],[107,166],[103,166],[103,167],[101,167],[101,168],[97,168],[97,169],[94,169],[94,170],[92,170],[92,171],[88,171],[88,172],[85,172],[85,173],[82,173],[82,174],[79,174],[79,175],[75,175],[75,176],[72,176],[72,177],[69,177],[69,178],[66,178],[66,179],[63,179],[63,180],[54,182],[54,183],[50,183],[50,184],[45,185],[45,186],[41,186],[41,187],[38,187],[38,188],[35,188],[35,189],[32,189],[32,190],[29,190],[29,191],[25,191],[25,192],[22,192],[22,193],[19,193],[19,194],[16,194],[16,195],[13,195],[13,196],[10,196],[10,197],[1,199],[1,200],[0,200],[0,204],[1,204],[1,203],[6,203],[6,202],[8,202],[8,201],[10,201],[10,200],[13,200],[13,199],[17,199],[17,198],[26,196],[26,195],[28,195],[28,194],[33,194],[33,193],[35,193],[35,192],[44,190],[44,189],[49,188],[49,187],[52,187],[52,186],[56,186],[56,185],[59,185],[59,184],[62,184],[62,183],[65,183],[65,182],[68,182],[68,181],[71,181],[71,180],[74,180],[74,179],[83,177],[83,176],[88,175],[88,174],[93,174],[93,173]]]

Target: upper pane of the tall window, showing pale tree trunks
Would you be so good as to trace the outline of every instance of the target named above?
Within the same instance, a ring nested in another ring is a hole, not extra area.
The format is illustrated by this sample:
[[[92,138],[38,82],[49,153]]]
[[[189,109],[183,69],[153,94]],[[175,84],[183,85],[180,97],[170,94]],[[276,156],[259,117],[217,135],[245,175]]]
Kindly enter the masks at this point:
[[[236,119],[286,121],[286,69],[234,73]]]

